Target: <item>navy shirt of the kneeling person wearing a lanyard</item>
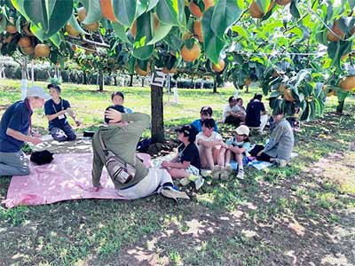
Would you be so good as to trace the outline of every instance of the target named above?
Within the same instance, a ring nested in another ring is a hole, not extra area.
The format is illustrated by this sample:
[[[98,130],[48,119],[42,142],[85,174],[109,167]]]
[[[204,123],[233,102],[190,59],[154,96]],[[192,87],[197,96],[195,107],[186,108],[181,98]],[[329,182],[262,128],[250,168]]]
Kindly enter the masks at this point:
[[[51,115],[54,113],[58,113],[62,110],[67,110],[67,108],[70,108],[70,104],[67,100],[60,98],[60,102],[58,105],[54,103],[52,99],[49,99],[44,103],[44,113],[45,115]],[[51,130],[52,128],[59,128],[59,129],[64,129],[64,126],[68,124],[67,121],[67,115],[64,114],[64,117],[62,119],[59,119],[59,117],[56,117],[52,121],[49,121],[49,129]]]

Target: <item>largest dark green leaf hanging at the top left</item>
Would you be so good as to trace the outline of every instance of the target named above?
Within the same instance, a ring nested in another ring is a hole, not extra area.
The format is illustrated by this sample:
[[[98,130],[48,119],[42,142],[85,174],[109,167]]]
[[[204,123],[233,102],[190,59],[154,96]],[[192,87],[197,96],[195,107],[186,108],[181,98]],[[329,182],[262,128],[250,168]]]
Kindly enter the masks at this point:
[[[69,20],[73,12],[73,0],[37,0],[36,3],[24,0],[23,8],[29,20],[43,30],[43,38],[47,39]]]

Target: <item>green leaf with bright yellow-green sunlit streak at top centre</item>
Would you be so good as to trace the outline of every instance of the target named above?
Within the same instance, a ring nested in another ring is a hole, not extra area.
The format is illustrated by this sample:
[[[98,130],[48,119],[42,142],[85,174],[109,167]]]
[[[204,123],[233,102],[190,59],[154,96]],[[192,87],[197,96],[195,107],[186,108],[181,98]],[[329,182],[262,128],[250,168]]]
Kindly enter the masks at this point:
[[[184,20],[184,0],[160,0],[156,5],[156,14],[162,23],[178,26]]]

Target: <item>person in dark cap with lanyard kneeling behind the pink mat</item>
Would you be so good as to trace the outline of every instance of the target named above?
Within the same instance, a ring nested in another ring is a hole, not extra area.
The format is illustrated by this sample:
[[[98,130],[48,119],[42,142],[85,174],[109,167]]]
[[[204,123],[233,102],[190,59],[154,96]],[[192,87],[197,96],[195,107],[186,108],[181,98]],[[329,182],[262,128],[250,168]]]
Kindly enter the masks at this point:
[[[50,90],[51,99],[45,102],[44,113],[49,121],[51,137],[57,141],[75,140],[75,131],[69,125],[66,113],[73,118],[76,126],[80,126],[81,121],[76,118],[69,102],[60,97],[61,90],[58,85],[49,84],[47,88]]]

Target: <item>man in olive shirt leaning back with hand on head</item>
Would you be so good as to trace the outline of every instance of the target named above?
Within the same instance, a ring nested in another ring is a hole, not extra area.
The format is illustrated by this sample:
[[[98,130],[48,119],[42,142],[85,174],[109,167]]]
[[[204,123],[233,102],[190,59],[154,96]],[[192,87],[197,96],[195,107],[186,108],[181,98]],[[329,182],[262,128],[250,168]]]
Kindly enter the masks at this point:
[[[146,168],[137,158],[136,146],[143,130],[149,126],[150,116],[146,113],[124,113],[123,106],[109,106],[105,112],[106,125],[101,126],[92,137],[93,165],[92,184],[94,191],[101,188],[100,177],[106,162],[106,150],[136,168],[132,180],[122,184],[113,179],[114,187],[120,196],[128,200],[143,198],[161,193],[173,200],[189,199],[185,192],[179,192],[173,186],[170,174],[162,168]],[[101,143],[99,137],[102,138]]]

